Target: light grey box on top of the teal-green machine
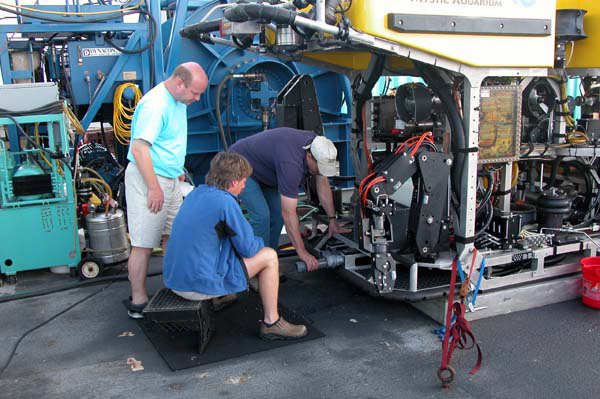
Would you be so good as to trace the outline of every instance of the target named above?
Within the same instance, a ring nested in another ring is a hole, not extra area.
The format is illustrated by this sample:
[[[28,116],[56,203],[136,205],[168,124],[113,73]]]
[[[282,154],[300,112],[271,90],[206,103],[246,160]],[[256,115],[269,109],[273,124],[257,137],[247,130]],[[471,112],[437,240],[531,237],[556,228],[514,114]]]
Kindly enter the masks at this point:
[[[56,83],[0,85],[0,108],[7,111],[30,111],[56,101]]]

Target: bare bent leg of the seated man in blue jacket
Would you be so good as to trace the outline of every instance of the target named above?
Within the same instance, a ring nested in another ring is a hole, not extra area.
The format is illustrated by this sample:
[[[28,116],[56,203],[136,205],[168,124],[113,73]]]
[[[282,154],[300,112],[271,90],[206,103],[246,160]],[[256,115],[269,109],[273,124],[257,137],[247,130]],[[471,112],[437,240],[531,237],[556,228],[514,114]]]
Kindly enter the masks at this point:
[[[252,258],[244,258],[248,277],[258,274],[260,299],[263,303],[264,322],[275,323],[279,319],[277,298],[279,294],[279,260],[277,252],[264,247]]]

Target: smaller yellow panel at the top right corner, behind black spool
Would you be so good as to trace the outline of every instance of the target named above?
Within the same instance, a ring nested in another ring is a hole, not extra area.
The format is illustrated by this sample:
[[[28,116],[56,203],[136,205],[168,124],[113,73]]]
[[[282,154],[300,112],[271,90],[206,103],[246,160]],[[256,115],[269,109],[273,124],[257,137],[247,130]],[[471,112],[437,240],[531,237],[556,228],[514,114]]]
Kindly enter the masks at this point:
[[[583,9],[583,30],[587,39],[575,42],[573,55],[567,46],[567,68],[600,68],[600,1],[599,0],[558,0],[556,9]]]

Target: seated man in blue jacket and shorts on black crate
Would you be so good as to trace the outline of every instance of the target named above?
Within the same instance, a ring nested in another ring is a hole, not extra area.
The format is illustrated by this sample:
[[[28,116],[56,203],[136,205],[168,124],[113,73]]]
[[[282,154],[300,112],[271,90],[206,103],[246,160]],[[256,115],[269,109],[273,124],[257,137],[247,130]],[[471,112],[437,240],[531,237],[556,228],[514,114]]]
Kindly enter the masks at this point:
[[[279,316],[279,260],[265,247],[244,218],[237,196],[252,174],[241,155],[218,153],[210,163],[206,184],[183,202],[173,221],[164,258],[164,283],[189,300],[208,300],[245,291],[248,279],[258,275],[264,318],[263,339],[296,339],[306,326]]]

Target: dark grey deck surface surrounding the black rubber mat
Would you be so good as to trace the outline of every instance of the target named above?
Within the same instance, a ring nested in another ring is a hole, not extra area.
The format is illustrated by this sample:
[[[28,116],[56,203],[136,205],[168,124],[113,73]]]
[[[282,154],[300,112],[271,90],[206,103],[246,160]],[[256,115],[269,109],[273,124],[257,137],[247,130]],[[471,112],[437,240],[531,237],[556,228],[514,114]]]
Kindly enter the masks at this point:
[[[151,270],[160,270],[160,257]],[[282,261],[290,270],[293,258]],[[72,281],[46,271],[24,274],[1,295]],[[323,291],[330,284],[331,291]],[[162,278],[149,279],[149,291]],[[325,286],[327,287],[327,286]],[[286,288],[288,289],[286,291]],[[0,377],[0,398],[597,398],[600,310],[579,300],[472,322],[476,354],[456,352],[457,376],[440,388],[438,325],[402,302],[371,298],[333,271],[288,274],[281,300],[326,336],[246,357],[172,372],[127,317],[126,281],[0,303],[0,367],[29,334]],[[330,292],[325,294],[324,292]],[[122,336],[131,332],[133,336]],[[131,371],[127,359],[142,362]]]

